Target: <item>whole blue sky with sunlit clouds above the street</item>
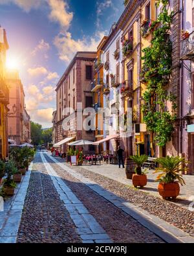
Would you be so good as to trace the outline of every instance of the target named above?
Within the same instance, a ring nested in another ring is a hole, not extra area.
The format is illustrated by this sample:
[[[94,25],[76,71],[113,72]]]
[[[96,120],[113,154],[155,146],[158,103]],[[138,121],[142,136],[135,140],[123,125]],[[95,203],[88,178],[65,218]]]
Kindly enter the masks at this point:
[[[0,25],[19,69],[32,121],[52,126],[55,86],[76,51],[96,51],[124,0],[0,0]]]

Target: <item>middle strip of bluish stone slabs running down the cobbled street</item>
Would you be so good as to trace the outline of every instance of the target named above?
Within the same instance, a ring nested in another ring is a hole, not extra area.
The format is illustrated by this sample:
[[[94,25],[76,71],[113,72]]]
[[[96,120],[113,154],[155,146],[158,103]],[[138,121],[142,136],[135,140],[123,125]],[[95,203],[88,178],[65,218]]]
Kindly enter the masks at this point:
[[[77,227],[77,232],[80,233],[81,239],[83,241],[93,240],[93,242],[94,240],[111,240],[109,236],[105,233],[105,230],[95,220],[95,218],[91,214],[89,214],[87,208],[81,203],[80,200],[78,200],[74,192],[72,192],[65,184],[65,181],[59,178],[58,174],[52,168],[50,163],[46,161],[43,154],[41,154],[41,159],[53,181],[54,186],[58,187],[59,197],[63,201],[65,208],[70,214],[70,218],[72,218],[72,221]],[[65,204],[66,201],[68,203],[71,202],[71,204]]]

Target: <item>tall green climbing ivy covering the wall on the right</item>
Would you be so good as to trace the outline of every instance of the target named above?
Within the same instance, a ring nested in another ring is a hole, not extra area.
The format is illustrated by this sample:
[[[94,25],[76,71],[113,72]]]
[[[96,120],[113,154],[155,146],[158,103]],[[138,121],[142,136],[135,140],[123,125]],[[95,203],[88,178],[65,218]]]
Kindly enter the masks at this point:
[[[147,129],[155,133],[158,146],[165,146],[171,140],[176,119],[176,98],[167,92],[167,84],[171,75],[172,43],[169,39],[173,12],[168,12],[168,0],[158,0],[156,5],[163,4],[162,12],[156,21],[150,24],[151,46],[143,50],[144,64],[141,77],[146,83],[145,101],[142,111]],[[166,102],[172,104],[172,110],[166,109]]]

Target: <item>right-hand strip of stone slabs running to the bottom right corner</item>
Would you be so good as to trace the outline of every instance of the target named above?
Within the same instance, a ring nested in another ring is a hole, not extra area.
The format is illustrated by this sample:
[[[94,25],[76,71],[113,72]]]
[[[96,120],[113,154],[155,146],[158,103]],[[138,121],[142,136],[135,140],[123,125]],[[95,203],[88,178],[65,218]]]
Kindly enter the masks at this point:
[[[58,165],[61,168],[69,172],[70,175],[74,176],[75,178],[78,178],[77,172],[75,170],[70,169],[69,167],[65,166],[63,163],[59,163],[56,159],[54,159],[54,157],[51,157],[50,155],[48,155],[48,157],[50,157],[50,159],[52,159],[55,163],[58,163]],[[79,177],[80,177],[80,174],[79,174]],[[87,180],[87,183],[83,182],[83,180],[85,181]],[[90,183],[90,180],[85,177],[80,178],[80,181],[85,183],[85,185]],[[98,189],[97,186],[100,187],[100,185],[96,183],[95,189]],[[93,186],[88,186],[88,187],[92,189]],[[103,198],[111,202],[110,198],[112,197],[111,195],[113,195],[112,192],[110,192],[109,194],[109,191],[102,191],[98,189],[98,194],[100,194],[100,196],[103,196]],[[124,198],[120,198],[119,196],[116,196],[116,195],[114,196],[115,196],[114,201],[116,200],[116,203],[114,203],[115,206],[118,205],[118,202],[120,202],[121,204],[121,206],[119,207],[120,209],[122,209],[125,213],[135,218],[138,222],[140,222],[140,224],[147,227],[147,229],[153,231],[153,233],[155,233],[156,235],[164,239],[166,242],[185,242],[186,240],[190,242],[191,241],[194,242],[193,237],[190,237],[187,233],[184,233],[177,227],[173,227],[172,225],[168,224],[164,220],[161,220],[157,216],[151,215],[147,211],[143,211],[140,207],[136,207],[136,205],[131,204],[126,200],[124,200]],[[184,239],[182,239],[183,237]],[[99,240],[99,239],[96,239],[96,240]]]

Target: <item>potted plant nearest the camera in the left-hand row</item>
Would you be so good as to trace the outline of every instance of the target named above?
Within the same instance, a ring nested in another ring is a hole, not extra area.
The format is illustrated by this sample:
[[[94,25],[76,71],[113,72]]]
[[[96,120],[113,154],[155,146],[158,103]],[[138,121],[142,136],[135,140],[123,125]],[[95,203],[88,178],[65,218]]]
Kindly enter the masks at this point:
[[[14,190],[16,188],[16,183],[12,179],[13,169],[14,169],[13,162],[8,161],[8,163],[6,163],[5,165],[6,179],[3,180],[3,188],[7,196],[13,196]]]

